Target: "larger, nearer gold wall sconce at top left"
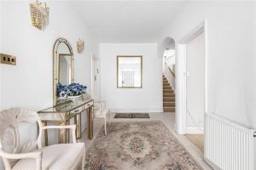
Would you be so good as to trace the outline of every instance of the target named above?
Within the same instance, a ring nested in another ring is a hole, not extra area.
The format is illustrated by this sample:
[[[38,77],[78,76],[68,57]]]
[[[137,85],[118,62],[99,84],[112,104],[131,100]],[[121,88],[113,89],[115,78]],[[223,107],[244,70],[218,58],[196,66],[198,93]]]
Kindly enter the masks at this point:
[[[46,3],[40,3],[38,0],[36,3],[30,3],[29,7],[32,26],[44,30],[49,24],[49,7],[46,6]]]

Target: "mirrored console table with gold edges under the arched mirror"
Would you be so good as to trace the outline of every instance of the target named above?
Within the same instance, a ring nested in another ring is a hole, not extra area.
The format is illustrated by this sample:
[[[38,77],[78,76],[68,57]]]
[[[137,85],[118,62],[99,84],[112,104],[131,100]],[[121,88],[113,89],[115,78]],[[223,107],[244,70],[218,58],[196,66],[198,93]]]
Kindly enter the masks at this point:
[[[81,138],[81,119],[82,114],[87,114],[87,130],[88,138],[93,139],[93,99],[77,100],[73,102],[72,100],[63,100],[57,105],[44,109],[43,111],[38,111],[41,121],[44,125],[48,122],[57,122],[60,125],[68,125],[73,119],[74,124],[76,124],[76,137]],[[59,143],[69,142],[69,130],[61,129],[59,133]],[[44,131],[44,142],[48,145],[48,132]]]

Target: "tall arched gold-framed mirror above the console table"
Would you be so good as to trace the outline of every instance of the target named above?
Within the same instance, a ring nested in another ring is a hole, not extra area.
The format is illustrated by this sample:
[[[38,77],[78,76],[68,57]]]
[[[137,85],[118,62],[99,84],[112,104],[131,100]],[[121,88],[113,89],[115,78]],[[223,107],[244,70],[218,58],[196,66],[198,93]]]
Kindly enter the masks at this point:
[[[58,99],[57,84],[68,85],[74,81],[73,63],[73,48],[67,39],[58,38],[53,48],[53,105]]]

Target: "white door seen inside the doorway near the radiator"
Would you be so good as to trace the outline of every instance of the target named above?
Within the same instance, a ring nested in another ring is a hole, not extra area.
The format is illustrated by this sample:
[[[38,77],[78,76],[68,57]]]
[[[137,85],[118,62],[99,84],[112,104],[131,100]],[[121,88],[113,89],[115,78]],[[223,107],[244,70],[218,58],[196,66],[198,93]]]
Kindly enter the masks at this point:
[[[187,43],[187,133],[203,133],[205,89],[204,33]]]

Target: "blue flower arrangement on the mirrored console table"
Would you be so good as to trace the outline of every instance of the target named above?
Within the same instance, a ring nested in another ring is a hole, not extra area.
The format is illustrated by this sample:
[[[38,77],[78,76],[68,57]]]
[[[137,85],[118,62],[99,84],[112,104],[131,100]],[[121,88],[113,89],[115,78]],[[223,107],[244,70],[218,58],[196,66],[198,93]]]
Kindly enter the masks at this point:
[[[60,82],[57,84],[57,96],[61,99],[68,97],[80,96],[86,93],[86,86],[79,83],[71,83],[69,85],[62,85]]]

